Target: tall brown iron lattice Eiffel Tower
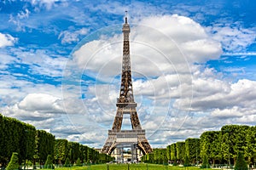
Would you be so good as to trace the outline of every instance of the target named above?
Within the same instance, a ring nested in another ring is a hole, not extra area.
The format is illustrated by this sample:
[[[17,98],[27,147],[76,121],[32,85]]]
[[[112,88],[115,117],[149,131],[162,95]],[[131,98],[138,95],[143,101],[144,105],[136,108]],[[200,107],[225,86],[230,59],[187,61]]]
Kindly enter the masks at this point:
[[[131,59],[130,59],[130,26],[125,16],[123,25],[123,61],[122,76],[119,98],[117,99],[117,112],[114,117],[113,127],[108,130],[108,139],[106,140],[101,152],[111,155],[115,148],[122,144],[132,144],[135,150],[141,150],[143,155],[152,152],[152,148],[146,139],[145,130],[142,128],[137,116],[137,103],[134,101],[132,82],[131,82]],[[121,130],[123,115],[129,114],[131,117],[131,130]]]

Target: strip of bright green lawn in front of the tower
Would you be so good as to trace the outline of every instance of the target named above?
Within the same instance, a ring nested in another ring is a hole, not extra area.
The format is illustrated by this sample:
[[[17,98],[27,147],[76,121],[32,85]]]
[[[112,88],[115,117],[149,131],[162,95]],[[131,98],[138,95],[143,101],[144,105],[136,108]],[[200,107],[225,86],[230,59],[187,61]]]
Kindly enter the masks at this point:
[[[172,167],[155,164],[101,164],[87,167],[56,167],[56,170],[199,170],[199,167]]]

